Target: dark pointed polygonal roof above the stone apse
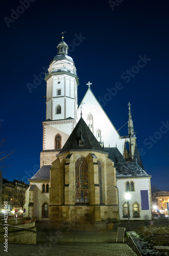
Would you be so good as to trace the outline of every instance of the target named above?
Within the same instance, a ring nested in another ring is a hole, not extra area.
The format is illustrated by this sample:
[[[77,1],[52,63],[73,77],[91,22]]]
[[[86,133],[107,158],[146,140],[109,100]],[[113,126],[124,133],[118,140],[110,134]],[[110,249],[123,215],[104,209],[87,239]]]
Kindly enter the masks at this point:
[[[82,141],[82,145],[79,144],[79,141]],[[103,152],[103,148],[82,117],[76,124],[73,132],[60,151],[60,154],[70,150],[96,150]]]

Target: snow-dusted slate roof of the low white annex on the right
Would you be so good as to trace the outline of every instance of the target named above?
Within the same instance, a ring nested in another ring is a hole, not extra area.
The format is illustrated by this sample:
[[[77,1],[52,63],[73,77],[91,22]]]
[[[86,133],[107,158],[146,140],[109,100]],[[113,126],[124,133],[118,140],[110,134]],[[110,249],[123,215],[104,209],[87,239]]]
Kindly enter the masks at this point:
[[[116,163],[116,177],[151,177],[137,163]]]

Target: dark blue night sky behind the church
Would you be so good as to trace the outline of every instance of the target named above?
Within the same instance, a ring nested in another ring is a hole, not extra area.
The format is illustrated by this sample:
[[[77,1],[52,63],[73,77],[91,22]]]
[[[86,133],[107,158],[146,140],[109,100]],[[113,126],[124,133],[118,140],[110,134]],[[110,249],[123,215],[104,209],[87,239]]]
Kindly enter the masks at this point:
[[[108,1],[27,1],[6,1],[1,8],[0,135],[7,138],[3,150],[16,149],[4,163],[10,165],[4,178],[26,180],[39,168],[46,95],[42,67],[57,54],[66,31],[80,83],[78,101],[91,81],[117,129],[128,120],[130,101],[144,167],[152,185],[168,190],[167,1],[117,0],[114,7],[113,1],[111,6]],[[30,93],[26,84],[39,76]],[[121,90],[115,93],[117,83]],[[120,134],[128,134],[127,125]]]

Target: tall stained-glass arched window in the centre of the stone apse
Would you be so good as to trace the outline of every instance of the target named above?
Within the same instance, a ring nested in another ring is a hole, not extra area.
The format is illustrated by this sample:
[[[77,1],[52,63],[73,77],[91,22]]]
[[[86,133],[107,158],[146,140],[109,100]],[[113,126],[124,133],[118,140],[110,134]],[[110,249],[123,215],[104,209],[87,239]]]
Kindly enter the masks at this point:
[[[88,191],[88,163],[84,157],[77,159],[75,163],[76,175],[76,203],[89,202]]]

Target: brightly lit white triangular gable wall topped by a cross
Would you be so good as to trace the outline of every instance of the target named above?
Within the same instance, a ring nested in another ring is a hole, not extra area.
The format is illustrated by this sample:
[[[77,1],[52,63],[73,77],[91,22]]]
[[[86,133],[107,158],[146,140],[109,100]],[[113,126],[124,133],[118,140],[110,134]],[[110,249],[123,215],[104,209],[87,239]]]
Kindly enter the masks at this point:
[[[92,91],[88,89],[85,97],[82,100],[82,118],[88,123],[88,115],[93,115],[93,133],[96,136],[98,129],[101,131],[101,139],[104,141],[104,146],[118,147],[118,150],[123,155],[125,139],[121,139],[114,125],[109,120],[108,116],[102,109],[101,105],[93,95]],[[78,108],[78,120],[80,118],[81,109]]]

